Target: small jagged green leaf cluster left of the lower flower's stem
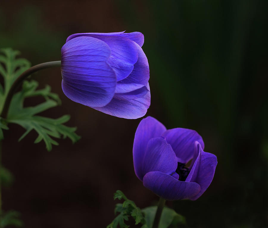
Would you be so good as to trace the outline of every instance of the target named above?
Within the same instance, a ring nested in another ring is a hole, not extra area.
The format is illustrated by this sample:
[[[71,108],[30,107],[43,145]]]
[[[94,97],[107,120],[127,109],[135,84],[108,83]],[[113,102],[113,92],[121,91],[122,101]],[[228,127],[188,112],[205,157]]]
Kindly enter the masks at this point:
[[[124,199],[124,202],[116,204],[114,212],[115,215],[119,214],[106,228],[117,228],[118,225],[120,228],[127,228],[129,225],[125,224],[125,221],[129,221],[129,217],[134,218],[135,225],[142,223],[144,224],[142,228],[147,228],[144,213],[132,200],[127,199],[122,191],[117,190],[114,194],[114,199]]]

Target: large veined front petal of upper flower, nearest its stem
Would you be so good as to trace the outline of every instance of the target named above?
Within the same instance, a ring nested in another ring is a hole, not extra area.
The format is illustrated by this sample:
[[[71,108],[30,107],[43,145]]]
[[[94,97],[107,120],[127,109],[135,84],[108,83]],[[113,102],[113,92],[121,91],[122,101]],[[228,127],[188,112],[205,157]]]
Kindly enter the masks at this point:
[[[116,74],[107,64],[109,46],[93,37],[77,37],[61,48],[62,89],[86,106],[105,106],[114,95]]]

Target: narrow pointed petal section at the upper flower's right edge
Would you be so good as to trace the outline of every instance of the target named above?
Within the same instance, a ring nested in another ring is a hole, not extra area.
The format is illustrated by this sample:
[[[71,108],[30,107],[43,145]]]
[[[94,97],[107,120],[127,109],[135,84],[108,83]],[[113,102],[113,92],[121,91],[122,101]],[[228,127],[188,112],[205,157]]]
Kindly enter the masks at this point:
[[[148,60],[142,48],[138,44],[136,44],[136,47],[138,49],[138,60],[134,65],[134,69],[127,78],[118,81],[118,83],[136,83],[146,86],[150,78]]]

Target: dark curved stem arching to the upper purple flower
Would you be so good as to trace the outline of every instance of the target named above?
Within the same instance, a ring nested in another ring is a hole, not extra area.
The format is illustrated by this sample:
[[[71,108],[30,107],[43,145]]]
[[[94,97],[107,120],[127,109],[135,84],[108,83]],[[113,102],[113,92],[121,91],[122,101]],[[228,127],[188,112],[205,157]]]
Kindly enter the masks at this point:
[[[32,73],[35,73],[38,70],[42,70],[49,67],[57,67],[61,65],[61,61],[52,61],[52,62],[44,62],[40,63],[38,65],[35,65],[33,67],[30,67],[28,70],[24,71],[13,83],[10,90],[8,91],[7,98],[4,103],[3,111],[1,113],[1,117],[7,118],[7,112],[10,106],[11,99],[13,97],[13,94],[16,92],[22,81],[27,78]]]

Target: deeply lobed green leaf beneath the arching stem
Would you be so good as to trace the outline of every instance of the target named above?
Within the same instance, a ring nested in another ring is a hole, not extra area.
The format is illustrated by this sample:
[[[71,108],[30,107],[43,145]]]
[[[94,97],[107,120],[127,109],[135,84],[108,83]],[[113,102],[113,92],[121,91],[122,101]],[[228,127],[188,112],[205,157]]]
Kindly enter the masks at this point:
[[[48,151],[52,150],[52,145],[58,145],[57,141],[51,137],[68,137],[73,143],[78,141],[80,136],[75,133],[76,128],[63,125],[70,119],[69,115],[64,115],[57,119],[35,115],[60,103],[58,96],[50,92],[50,87],[47,86],[45,89],[36,90],[37,87],[38,83],[36,81],[24,81],[22,90],[16,93],[11,100],[6,121],[21,125],[26,130],[19,138],[19,141],[31,130],[35,130],[38,133],[35,143],[43,140]],[[34,107],[23,107],[24,99],[33,96],[43,96],[46,101]]]

